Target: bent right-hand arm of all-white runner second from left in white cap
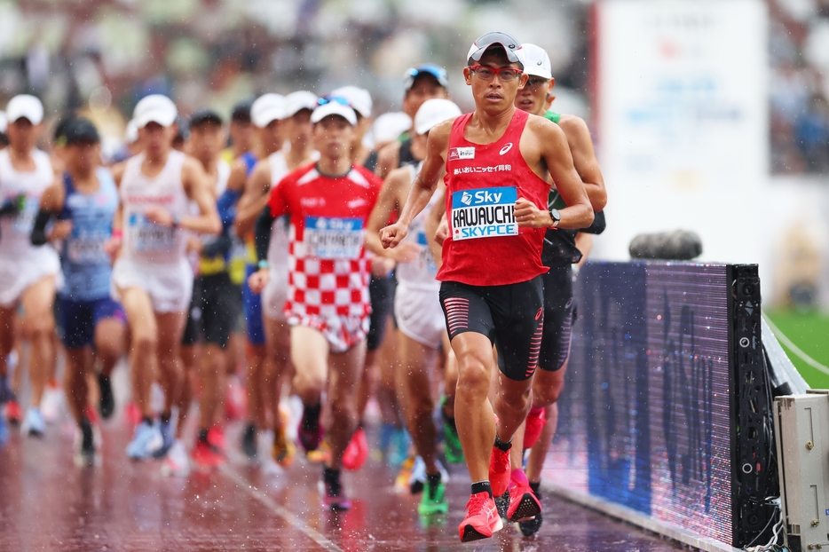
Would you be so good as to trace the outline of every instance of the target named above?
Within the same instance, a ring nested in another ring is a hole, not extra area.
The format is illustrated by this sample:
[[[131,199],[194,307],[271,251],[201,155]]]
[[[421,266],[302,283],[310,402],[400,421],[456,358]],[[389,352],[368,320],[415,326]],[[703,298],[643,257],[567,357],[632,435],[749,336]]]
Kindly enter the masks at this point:
[[[200,214],[195,217],[174,218],[166,209],[150,207],[144,216],[156,225],[173,226],[196,233],[217,234],[222,232],[222,221],[216,209],[216,197],[211,192],[207,173],[193,157],[187,157],[181,168],[181,184],[188,198],[199,207]]]

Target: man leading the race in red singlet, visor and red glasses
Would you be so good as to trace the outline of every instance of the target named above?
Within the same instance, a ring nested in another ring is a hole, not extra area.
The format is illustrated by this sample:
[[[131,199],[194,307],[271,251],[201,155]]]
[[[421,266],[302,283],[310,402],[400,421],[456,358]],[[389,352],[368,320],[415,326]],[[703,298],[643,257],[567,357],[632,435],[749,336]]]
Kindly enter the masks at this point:
[[[430,131],[426,160],[400,220],[381,235],[383,246],[392,248],[406,237],[445,166],[451,232],[437,278],[459,366],[455,420],[473,482],[459,527],[464,542],[491,537],[502,526],[493,494],[507,489],[512,436],[531,406],[543,329],[545,229],[593,221],[564,133],[514,105],[526,83],[523,69],[521,44],[510,35],[487,33],[472,44],[463,72],[476,110]],[[547,210],[548,172],[568,205],[553,213]],[[491,405],[493,344],[501,375]],[[540,511],[538,501],[531,502],[516,515]]]

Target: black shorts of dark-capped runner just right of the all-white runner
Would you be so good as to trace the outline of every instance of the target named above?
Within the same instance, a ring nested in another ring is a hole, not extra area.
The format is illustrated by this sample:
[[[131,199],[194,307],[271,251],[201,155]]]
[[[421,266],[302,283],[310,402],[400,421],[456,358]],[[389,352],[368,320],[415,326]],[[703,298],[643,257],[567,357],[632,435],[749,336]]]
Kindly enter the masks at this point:
[[[227,272],[193,280],[193,299],[181,343],[193,345],[203,339],[224,349],[239,308],[236,293]]]

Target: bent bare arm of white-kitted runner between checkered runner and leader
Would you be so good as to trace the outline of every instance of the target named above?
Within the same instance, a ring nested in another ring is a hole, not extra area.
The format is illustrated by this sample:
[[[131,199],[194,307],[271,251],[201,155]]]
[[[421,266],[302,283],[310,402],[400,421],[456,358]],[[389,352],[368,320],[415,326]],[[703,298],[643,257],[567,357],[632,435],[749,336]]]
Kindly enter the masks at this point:
[[[383,243],[380,241],[380,231],[389,222],[391,214],[399,213],[403,201],[406,201],[409,185],[411,184],[409,180],[411,174],[411,170],[407,167],[391,171],[389,177],[383,182],[383,188],[380,190],[375,208],[371,211],[371,217],[368,218],[366,229],[366,248],[375,255],[384,256],[399,263],[413,260],[420,248],[409,242],[404,244],[407,247],[383,248]]]

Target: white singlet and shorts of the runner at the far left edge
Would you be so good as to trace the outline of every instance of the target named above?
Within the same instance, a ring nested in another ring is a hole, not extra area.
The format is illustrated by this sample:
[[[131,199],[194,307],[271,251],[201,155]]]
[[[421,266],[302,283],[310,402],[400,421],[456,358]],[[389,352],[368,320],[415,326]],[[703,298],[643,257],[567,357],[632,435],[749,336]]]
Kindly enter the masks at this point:
[[[32,151],[35,170],[19,172],[12,167],[9,148],[0,151],[0,206],[23,195],[22,211],[13,217],[0,217],[0,306],[11,308],[32,284],[55,276],[60,287],[60,260],[51,245],[36,247],[30,236],[35,225],[43,191],[55,179],[49,155]]]

